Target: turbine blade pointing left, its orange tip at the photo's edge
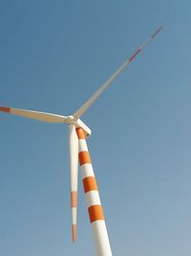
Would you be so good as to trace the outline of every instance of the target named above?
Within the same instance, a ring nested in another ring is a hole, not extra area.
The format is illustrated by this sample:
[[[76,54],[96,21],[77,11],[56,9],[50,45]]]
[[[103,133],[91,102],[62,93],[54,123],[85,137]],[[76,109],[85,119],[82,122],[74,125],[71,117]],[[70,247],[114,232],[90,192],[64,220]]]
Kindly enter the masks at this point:
[[[55,115],[51,113],[38,112],[26,109],[18,109],[6,106],[0,106],[0,111],[48,123],[65,123],[67,120],[65,116],[61,115]]]

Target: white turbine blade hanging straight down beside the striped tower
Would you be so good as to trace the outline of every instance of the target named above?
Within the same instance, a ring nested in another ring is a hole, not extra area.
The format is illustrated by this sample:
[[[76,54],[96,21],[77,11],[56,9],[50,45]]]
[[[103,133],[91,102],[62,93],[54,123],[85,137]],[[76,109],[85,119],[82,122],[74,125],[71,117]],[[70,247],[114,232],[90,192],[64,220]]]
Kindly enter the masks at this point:
[[[77,180],[78,180],[78,138],[74,124],[69,125],[69,150],[71,166],[71,207],[73,221],[73,242],[76,240]]]

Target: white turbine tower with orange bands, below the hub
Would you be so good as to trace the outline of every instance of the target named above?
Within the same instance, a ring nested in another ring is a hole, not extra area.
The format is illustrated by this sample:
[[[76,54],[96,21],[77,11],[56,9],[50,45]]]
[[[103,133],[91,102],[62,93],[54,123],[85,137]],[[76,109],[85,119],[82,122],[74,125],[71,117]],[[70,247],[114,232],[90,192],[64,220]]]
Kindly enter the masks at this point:
[[[82,169],[83,186],[98,256],[112,256],[96,177],[94,174],[86,138],[82,128],[76,128],[79,139],[79,163]]]

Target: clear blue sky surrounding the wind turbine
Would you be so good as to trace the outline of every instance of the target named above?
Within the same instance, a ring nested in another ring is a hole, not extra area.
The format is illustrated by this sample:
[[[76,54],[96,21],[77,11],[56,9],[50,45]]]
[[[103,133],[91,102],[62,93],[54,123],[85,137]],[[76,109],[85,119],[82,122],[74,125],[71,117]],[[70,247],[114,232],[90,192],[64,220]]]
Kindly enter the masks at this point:
[[[71,114],[160,25],[87,111],[114,256],[191,255],[191,2],[2,0],[0,105]],[[90,256],[68,128],[0,114],[0,255]]]

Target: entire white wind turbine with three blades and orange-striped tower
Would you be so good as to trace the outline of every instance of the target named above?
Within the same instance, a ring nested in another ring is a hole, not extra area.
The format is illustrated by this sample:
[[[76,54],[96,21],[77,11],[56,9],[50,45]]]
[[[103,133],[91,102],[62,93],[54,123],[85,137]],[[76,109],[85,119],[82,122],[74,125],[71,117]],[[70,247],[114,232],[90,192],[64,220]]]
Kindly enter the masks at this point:
[[[103,209],[99,198],[96,177],[92,166],[90,153],[88,151],[86,139],[91,135],[88,128],[79,118],[84,112],[94,104],[100,94],[118,77],[124,68],[137,57],[138,53],[159,33],[160,27],[151,35],[134,54],[126,59],[117,71],[105,81],[96,93],[82,105],[73,115],[63,116],[52,113],[18,109],[0,106],[0,111],[19,115],[48,123],[66,123],[69,126],[69,151],[71,166],[71,207],[72,207],[72,228],[73,241],[76,239],[76,212],[77,212],[77,179],[78,179],[78,160],[82,170],[82,179],[87,202],[89,217],[93,229],[97,256],[112,256],[112,250],[108,238]]]

